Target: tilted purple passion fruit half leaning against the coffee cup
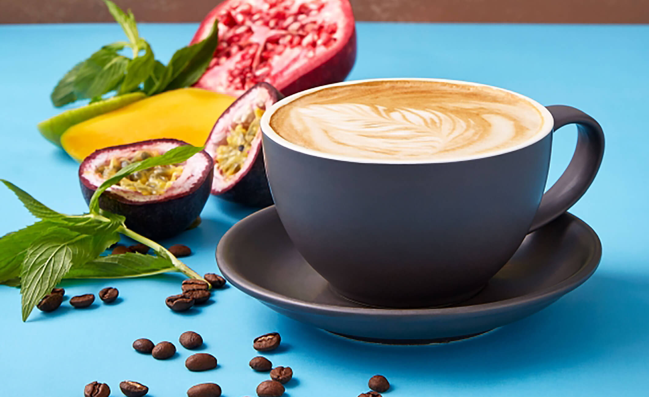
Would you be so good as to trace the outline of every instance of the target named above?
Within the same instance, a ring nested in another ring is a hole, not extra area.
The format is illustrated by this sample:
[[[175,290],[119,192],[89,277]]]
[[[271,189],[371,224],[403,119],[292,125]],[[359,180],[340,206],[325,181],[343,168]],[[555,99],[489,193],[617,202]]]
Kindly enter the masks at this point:
[[[255,84],[216,121],[205,143],[206,152],[214,158],[212,194],[250,207],[273,205],[259,119],[283,97],[273,85]]]

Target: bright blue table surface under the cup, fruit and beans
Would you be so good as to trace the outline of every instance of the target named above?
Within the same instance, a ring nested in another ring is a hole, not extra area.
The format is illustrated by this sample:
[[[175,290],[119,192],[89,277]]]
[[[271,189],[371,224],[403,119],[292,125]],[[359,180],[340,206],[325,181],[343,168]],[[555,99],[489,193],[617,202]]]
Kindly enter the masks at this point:
[[[167,60],[197,25],[141,24],[157,58]],[[0,27],[0,177],[56,210],[87,209],[75,161],[40,137],[36,123],[58,113],[53,85],[72,65],[111,41],[116,24]],[[466,25],[358,23],[358,60],[349,78],[441,77],[506,87],[542,104],[569,104],[604,127],[606,155],[597,179],[572,212],[599,234],[600,268],[582,287],[545,310],[476,339],[432,346],[350,341],[282,317],[236,288],[187,314],[162,302],[177,293],[179,275],[135,280],[69,281],[67,296],[119,288],[121,301],[54,313],[35,310],[20,321],[18,289],[0,286],[0,395],[80,396],[86,383],[122,380],[148,385],[152,397],[183,396],[215,381],[226,397],[254,395],[267,374],[253,372],[252,339],[282,334],[286,349],[269,354],[291,366],[286,396],[357,396],[380,373],[386,396],[640,396],[649,389],[649,27],[595,25]],[[556,134],[550,182],[567,165],[574,128]],[[548,183],[549,185],[549,183]],[[0,235],[34,219],[0,188]],[[186,263],[217,271],[214,249],[250,209],[210,198],[199,229],[173,242],[189,245]],[[381,324],[376,324],[381,326]],[[201,333],[202,350],[219,359],[189,372],[178,335]],[[178,354],[156,361],[132,341],[172,341]],[[33,392],[31,392],[33,391]]]

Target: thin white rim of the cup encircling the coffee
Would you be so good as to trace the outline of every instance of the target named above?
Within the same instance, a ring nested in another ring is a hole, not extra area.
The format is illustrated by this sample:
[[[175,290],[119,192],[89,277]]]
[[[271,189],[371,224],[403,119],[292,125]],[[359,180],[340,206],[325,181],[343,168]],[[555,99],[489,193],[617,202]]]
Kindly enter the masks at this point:
[[[400,159],[367,159],[364,157],[352,157],[352,156],[345,156],[345,155],[337,155],[337,154],[332,154],[332,153],[325,153],[325,152],[320,152],[319,150],[313,150],[309,148],[305,148],[304,146],[299,146],[298,144],[294,144],[292,142],[287,141],[286,139],[282,138],[278,133],[271,128],[270,125],[270,120],[271,117],[273,116],[273,113],[282,106],[288,104],[289,102],[293,102],[293,100],[296,100],[297,98],[300,98],[300,96],[308,95],[310,93],[313,93],[315,91],[320,91],[321,89],[326,89],[328,87],[339,87],[341,85],[354,85],[354,84],[361,84],[361,83],[366,83],[366,82],[383,82],[383,81],[424,81],[424,82],[444,82],[444,83],[450,83],[450,84],[461,84],[461,85],[472,85],[475,87],[490,87],[492,89],[496,89],[498,91],[502,91],[504,93],[509,93],[511,95],[515,95],[523,100],[526,100],[532,106],[537,108],[539,112],[541,113],[541,116],[543,117],[543,124],[541,125],[541,128],[537,133],[535,133],[532,137],[527,139],[524,142],[521,142],[520,144],[517,144],[515,146],[511,146],[508,148],[504,148],[501,150],[496,150],[493,152],[489,153],[480,153],[480,154],[474,154],[474,155],[462,155],[462,156],[457,156],[457,157],[445,157],[443,159],[426,159],[426,160],[400,160]],[[548,109],[545,108],[545,106],[539,104],[539,102],[536,102],[532,98],[529,98],[528,96],[524,96],[522,94],[516,93],[514,91],[509,91],[508,89],[500,88],[500,87],[495,87],[494,85],[488,85],[488,84],[481,84],[481,83],[475,83],[475,82],[466,82],[462,80],[448,80],[445,78],[421,78],[421,77],[415,77],[415,78],[407,78],[407,77],[398,77],[398,78],[369,78],[365,80],[349,80],[345,82],[339,82],[339,83],[334,83],[334,84],[327,84],[327,85],[321,85],[319,87],[314,87],[311,89],[306,89],[304,91],[300,91],[299,93],[295,93],[293,95],[289,95],[286,98],[283,98],[282,100],[279,100],[278,102],[275,102],[273,106],[271,106],[269,109],[266,109],[266,111],[263,113],[262,120],[261,120],[261,128],[262,128],[262,133],[267,137],[268,139],[271,139],[273,142],[276,142],[277,144],[280,144],[281,146],[284,146],[288,149],[294,150],[295,152],[300,152],[304,153],[306,155],[312,155],[315,157],[322,157],[324,159],[332,159],[332,160],[338,160],[338,161],[347,161],[350,163],[370,163],[370,164],[433,164],[433,163],[456,163],[458,161],[468,161],[468,160],[475,160],[475,159],[483,159],[485,157],[494,157],[496,155],[501,155],[504,153],[509,153],[509,152],[515,152],[516,150],[520,150],[522,148],[525,148],[527,146],[531,146],[532,144],[535,144],[538,141],[541,141],[541,139],[545,138],[550,132],[552,132],[552,129],[554,128],[554,119],[552,118],[552,114]]]

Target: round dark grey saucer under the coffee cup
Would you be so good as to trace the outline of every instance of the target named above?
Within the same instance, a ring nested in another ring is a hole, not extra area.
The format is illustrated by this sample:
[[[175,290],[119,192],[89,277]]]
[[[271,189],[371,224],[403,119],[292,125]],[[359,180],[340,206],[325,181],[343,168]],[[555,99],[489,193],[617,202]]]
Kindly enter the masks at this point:
[[[538,312],[587,280],[601,255],[593,229],[565,214],[529,234],[468,301],[446,308],[387,309],[334,293],[295,250],[275,207],[239,221],[216,250],[223,276],[276,312],[354,339],[405,344],[471,337]],[[389,280],[376,288],[390,288]]]

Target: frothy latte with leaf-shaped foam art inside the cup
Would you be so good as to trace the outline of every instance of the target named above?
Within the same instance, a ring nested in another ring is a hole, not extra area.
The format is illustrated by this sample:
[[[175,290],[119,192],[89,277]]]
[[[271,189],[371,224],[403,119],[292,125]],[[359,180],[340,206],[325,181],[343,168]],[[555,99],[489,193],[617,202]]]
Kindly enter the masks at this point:
[[[488,86],[382,80],[328,87],[270,119],[289,142],[376,160],[437,160],[497,152],[541,131],[531,102]]]

